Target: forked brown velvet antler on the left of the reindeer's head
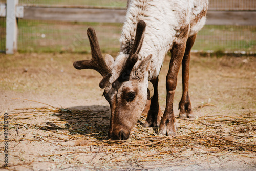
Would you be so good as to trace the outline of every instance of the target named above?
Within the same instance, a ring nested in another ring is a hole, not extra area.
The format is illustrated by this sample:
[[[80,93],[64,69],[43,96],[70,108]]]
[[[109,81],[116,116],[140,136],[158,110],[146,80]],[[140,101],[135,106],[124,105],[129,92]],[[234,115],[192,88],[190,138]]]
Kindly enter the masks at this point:
[[[87,30],[87,35],[90,41],[92,59],[91,60],[81,60],[74,62],[74,67],[78,70],[81,69],[93,69],[98,71],[103,79],[99,83],[99,87],[101,89],[106,87],[110,77],[111,77],[111,69],[106,65],[99,48],[99,42],[96,36],[96,32],[94,28],[89,28]]]

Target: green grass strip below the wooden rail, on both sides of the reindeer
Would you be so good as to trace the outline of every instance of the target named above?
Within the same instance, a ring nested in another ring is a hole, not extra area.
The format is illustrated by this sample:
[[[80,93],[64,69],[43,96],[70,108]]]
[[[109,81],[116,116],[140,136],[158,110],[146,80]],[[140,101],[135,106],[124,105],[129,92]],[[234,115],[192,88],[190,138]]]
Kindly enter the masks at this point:
[[[122,24],[50,22],[19,19],[19,52],[90,53],[87,29],[96,30],[102,52],[118,52]],[[5,20],[0,18],[0,50],[5,50]],[[193,50],[256,52],[256,26],[207,25],[198,33]]]

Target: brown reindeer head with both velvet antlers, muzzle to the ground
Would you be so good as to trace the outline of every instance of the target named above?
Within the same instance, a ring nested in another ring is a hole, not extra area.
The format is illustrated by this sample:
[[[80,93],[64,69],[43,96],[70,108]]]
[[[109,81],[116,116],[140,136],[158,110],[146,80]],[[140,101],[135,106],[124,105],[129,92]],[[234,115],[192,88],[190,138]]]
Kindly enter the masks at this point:
[[[147,99],[152,96],[148,89],[148,70],[151,57],[138,61],[142,47],[146,24],[140,20],[137,23],[136,36],[130,54],[120,53],[114,61],[110,55],[103,59],[96,33],[93,28],[87,30],[92,51],[91,60],[74,62],[76,69],[94,69],[103,79],[99,86],[105,88],[104,97],[111,108],[109,137],[112,140],[129,138],[133,126],[138,121]]]

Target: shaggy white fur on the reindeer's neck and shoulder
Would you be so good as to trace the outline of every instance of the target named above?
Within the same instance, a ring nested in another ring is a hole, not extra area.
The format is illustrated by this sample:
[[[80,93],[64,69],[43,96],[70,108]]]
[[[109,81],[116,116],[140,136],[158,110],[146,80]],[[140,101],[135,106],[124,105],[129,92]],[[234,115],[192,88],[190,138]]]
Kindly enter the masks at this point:
[[[159,75],[166,53],[172,48],[182,26],[190,25],[189,36],[196,34],[205,23],[205,16],[191,24],[202,12],[207,11],[208,0],[130,0],[120,38],[121,52],[115,61],[116,74],[120,71],[129,48],[132,47],[139,20],[146,22],[146,31],[139,60],[152,54],[150,75]],[[115,72],[115,71],[114,71]],[[115,73],[113,73],[115,74]],[[114,78],[113,78],[114,79]]]

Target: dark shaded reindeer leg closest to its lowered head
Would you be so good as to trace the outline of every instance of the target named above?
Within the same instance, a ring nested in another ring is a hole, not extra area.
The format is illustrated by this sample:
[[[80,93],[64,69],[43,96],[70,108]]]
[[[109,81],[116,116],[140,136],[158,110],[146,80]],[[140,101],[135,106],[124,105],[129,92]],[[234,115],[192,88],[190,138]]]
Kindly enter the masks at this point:
[[[158,77],[151,80],[151,82],[154,86],[154,95],[151,100],[147,101],[144,109],[144,112],[146,112],[148,105],[150,105],[144,127],[159,127],[163,113],[158,103]]]

